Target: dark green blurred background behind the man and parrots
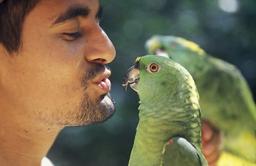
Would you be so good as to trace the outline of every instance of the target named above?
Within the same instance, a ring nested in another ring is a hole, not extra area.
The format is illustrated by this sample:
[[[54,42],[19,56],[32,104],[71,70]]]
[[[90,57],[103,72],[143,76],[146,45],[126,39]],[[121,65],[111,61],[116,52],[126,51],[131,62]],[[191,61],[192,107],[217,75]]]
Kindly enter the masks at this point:
[[[111,95],[115,116],[102,124],[61,131],[48,158],[56,166],[127,165],[138,123],[138,95],[122,90],[122,77],[146,54],[152,35],[184,37],[207,53],[236,65],[256,97],[255,0],[100,0],[102,28],[116,49]]]

